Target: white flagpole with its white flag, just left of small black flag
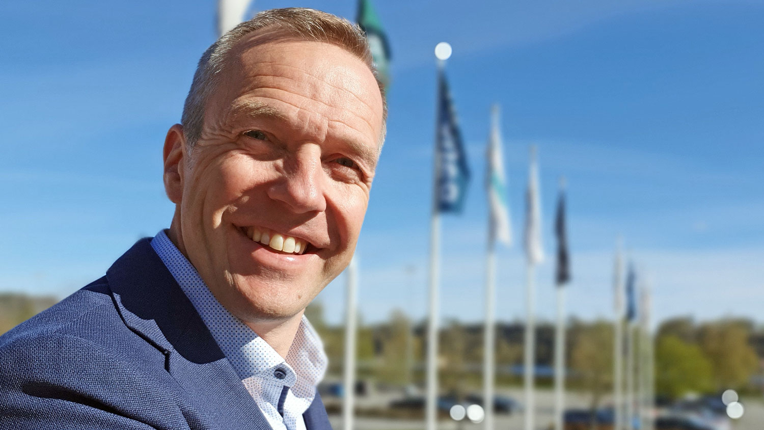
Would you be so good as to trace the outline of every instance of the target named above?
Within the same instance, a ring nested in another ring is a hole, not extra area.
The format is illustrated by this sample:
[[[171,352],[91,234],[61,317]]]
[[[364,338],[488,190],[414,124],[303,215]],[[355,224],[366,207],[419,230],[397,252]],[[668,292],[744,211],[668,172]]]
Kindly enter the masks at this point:
[[[543,251],[541,245],[541,233],[540,221],[541,221],[541,209],[539,208],[539,184],[538,184],[538,170],[536,167],[536,147],[530,148],[530,172],[529,172],[529,185],[527,192],[527,206],[528,211],[526,214],[526,254],[527,254],[527,267],[526,267],[526,307],[527,307],[527,321],[525,332],[525,345],[524,352],[525,357],[523,360],[523,383],[525,386],[525,430],[534,430],[533,419],[536,414],[536,403],[533,393],[533,377],[534,366],[536,359],[536,319],[534,313],[536,311],[535,305],[535,278],[536,278],[536,264],[543,260]]]

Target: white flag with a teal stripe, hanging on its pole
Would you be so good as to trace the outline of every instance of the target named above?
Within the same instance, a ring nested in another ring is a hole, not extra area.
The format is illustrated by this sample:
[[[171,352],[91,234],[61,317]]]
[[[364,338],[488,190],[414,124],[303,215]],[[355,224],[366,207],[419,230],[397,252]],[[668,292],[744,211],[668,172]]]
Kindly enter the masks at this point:
[[[491,108],[491,128],[487,152],[486,187],[490,213],[490,240],[500,241],[509,246],[512,244],[512,228],[510,226],[510,206],[507,204],[507,178],[504,175],[498,105]]]

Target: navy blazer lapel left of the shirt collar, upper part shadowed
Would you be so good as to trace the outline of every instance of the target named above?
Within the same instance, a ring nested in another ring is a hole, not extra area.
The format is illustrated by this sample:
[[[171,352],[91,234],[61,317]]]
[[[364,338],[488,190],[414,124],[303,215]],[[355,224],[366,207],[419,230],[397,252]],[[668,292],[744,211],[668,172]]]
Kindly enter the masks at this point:
[[[187,419],[201,428],[209,423],[226,430],[271,430],[150,238],[134,244],[106,276],[125,325],[167,357],[167,371],[188,396],[180,399]]]

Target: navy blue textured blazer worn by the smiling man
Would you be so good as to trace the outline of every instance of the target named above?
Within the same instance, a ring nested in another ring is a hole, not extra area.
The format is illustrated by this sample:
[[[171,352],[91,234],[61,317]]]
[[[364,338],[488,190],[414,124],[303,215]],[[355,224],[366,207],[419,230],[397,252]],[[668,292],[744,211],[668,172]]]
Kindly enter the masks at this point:
[[[316,399],[308,430],[332,430]],[[270,430],[145,238],[0,336],[0,428]]]

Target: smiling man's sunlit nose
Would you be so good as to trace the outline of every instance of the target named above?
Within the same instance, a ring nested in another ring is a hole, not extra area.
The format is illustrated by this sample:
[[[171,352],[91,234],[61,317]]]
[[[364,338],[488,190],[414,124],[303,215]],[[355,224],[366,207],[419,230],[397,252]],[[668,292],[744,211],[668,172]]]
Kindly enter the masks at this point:
[[[283,176],[268,189],[270,199],[284,202],[296,213],[326,210],[320,149],[310,146],[284,160]]]

